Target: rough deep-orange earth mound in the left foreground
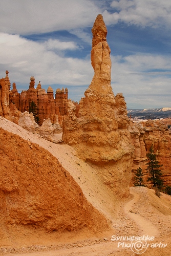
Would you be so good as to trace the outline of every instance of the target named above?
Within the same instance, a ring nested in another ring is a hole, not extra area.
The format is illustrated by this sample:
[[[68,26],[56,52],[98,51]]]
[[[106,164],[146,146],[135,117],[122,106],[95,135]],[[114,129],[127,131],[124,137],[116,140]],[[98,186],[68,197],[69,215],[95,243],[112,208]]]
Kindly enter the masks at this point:
[[[0,129],[0,221],[47,231],[108,228],[105,218],[44,148]]]

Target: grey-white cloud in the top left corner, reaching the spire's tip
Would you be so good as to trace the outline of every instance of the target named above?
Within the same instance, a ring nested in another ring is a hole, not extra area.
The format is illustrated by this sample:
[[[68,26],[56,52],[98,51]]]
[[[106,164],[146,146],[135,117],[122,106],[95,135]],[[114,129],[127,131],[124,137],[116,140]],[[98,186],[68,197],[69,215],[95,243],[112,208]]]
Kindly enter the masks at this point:
[[[39,34],[91,25],[100,9],[90,0],[1,1],[1,31]]]

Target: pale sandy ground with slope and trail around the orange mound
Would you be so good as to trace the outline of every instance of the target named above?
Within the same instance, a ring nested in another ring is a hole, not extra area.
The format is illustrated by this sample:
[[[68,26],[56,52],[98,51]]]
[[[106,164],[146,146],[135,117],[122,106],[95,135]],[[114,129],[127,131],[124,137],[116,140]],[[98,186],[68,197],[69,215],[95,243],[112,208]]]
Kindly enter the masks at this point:
[[[131,187],[130,197],[119,201],[98,178],[96,171],[76,156],[71,146],[44,140],[2,117],[0,127],[44,147],[55,156],[79,184],[88,201],[103,213],[112,227],[104,233],[93,234],[82,230],[60,236],[56,232],[48,234],[35,230],[34,233],[23,229],[13,241],[7,238],[0,242],[0,255],[171,255],[171,196],[162,194],[158,198],[152,189]],[[61,135],[57,136],[60,139]],[[112,236],[118,241],[111,241]],[[123,241],[123,237],[133,236],[154,237],[154,241],[146,241],[148,248],[145,249],[130,248],[131,242]]]

